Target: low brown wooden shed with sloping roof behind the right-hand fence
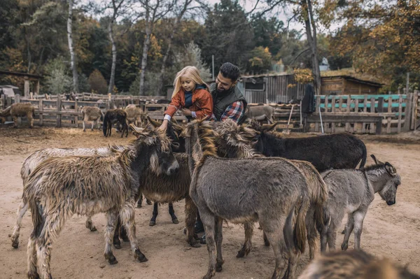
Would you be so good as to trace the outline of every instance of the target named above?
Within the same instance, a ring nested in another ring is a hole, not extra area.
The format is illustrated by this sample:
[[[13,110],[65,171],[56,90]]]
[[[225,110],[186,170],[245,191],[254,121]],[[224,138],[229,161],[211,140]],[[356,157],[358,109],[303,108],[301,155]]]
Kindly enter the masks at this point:
[[[379,94],[381,83],[360,80],[351,76],[321,77],[321,95],[362,95]]]

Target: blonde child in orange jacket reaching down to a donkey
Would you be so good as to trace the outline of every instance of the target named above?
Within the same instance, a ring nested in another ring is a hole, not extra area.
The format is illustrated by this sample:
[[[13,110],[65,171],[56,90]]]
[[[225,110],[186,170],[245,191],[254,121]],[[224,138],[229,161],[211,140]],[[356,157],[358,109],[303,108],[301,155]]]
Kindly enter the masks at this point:
[[[209,87],[200,78],[200,72],[195,66],[186,66],[176,73],[174,94],[160,129],[167,129],[168,122],[179,109],[188,119],[202,119],[213,114],[213,99]]]

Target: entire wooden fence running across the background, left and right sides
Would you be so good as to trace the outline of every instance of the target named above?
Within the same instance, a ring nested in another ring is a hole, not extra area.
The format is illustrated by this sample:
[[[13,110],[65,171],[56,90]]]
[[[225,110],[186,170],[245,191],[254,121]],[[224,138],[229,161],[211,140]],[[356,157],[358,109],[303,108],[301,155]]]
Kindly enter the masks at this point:
[[[103,96],[103,95],[101,95]],[[85,96],[87,98],[87,96]],[[94,94],[90,97],[97,98]],[[151,96],[117,97],[99,101],[66,101],[60,97],[38,99],[22,99],[19,95],[15,98],[0,98],[0,109],[10,106],[14,102],[32,103],[35,110],[34,124],[38,126],[54,127],[81,127],[82,106],[97,106],[105,113],[109,108],[125,108],[129,103],[141,103]],[[256,104],[250,103],[249,106]],[[141,103],[142,108],[155,120],[162,120],[167,103]],[[279,122],[279,128],[285,128],[290,117],[290,104],[270,104],[274,106],[274,120]],[[349,131],[357,134],[386,134],[400,133],[409,129],[419,128],[420,125],[420,92],[394,95],[337,95],[316,96],[316,113],[303,118],[300,106],[293,105],[289,129],[304,129],[304,131],[321,131],[323,120],[325,133]],[[186,122],[186,117],[177,113],[175,119]]]

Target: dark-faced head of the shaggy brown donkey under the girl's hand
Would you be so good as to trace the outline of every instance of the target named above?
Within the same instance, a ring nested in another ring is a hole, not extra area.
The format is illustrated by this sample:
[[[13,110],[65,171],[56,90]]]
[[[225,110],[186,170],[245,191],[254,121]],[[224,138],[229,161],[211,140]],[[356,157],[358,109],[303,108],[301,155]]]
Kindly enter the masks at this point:
[[[162,173],[170,176],[179,169],[179,163],[172,154],[171,141],[164,131],[147,126],[146,129],[130,124],[134,136],[137,136],[137,144],[146,145],[151,150],[150,167],[153,173]]]

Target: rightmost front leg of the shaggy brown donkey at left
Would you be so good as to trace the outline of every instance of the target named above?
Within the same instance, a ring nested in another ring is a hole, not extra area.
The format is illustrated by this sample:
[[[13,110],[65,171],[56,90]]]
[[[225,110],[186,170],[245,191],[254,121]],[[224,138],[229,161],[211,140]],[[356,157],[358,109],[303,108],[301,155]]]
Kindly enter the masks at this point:
[[[136,238],[136,222],[134,217],[135,211],[133,204],[126,203],[123,210],[120,211],[121,224],[124,224],[124,227],[127,228],[128,238],[130,238],[131,248],[134,253],[134,259],[137,259],[139,262],[147,262],[148,259],[140,251],[139,242]]]

